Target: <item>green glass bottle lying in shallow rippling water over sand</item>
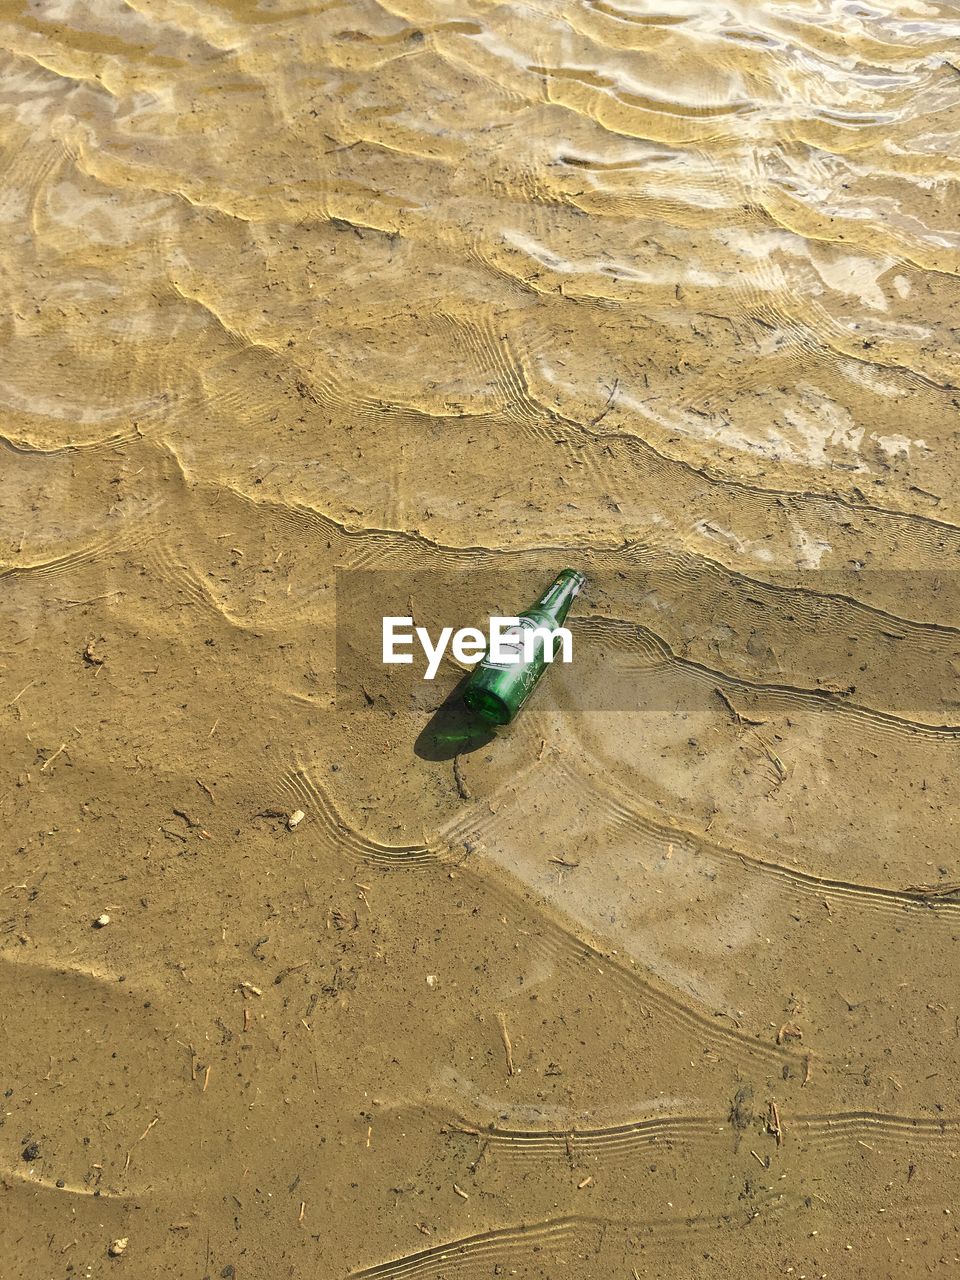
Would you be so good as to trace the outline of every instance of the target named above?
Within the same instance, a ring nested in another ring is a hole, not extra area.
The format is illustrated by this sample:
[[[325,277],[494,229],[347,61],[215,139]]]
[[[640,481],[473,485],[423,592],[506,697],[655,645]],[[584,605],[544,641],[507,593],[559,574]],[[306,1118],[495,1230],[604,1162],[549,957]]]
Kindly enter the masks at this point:
[[[463,686],[463,701],[475,716],[490,724],[509,724],[516,718],[547,667],[548,637],[540,628],[552,631],[563,625],[585,581],[579,570],[561,570],[540,599],[520,614],[520,625],[503,632],[500,655],[506,652],[518,660],[493,662],[489,650],[481,658]],[[527,660],[524,660],[525,631],[535,632]],[[556,646],[554,653],[558,653]]]

